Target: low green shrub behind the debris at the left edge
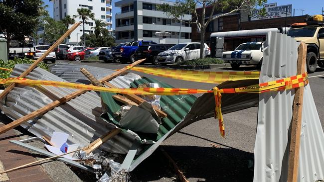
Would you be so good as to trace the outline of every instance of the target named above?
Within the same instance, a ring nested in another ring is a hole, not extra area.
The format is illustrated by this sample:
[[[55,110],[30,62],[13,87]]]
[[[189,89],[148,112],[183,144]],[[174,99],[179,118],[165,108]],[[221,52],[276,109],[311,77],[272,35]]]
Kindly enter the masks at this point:
[[[20,59],[20,58],[16,59],[15,58],[13,60],[8,60],[7,63],[4,63],[4,61],[0,60],[0,67],[13,70],[14,65],[16,65],[16,64],[32,64],[32,63],[34,63],[34,61],[30,60],[30,59]],[[38,67],[48,71],[48,66],[43,62],[39,63]],[[0,78],[1,79],[8,78],[10,76],[10,74],[11,74],[10,71],[0,70]]]

